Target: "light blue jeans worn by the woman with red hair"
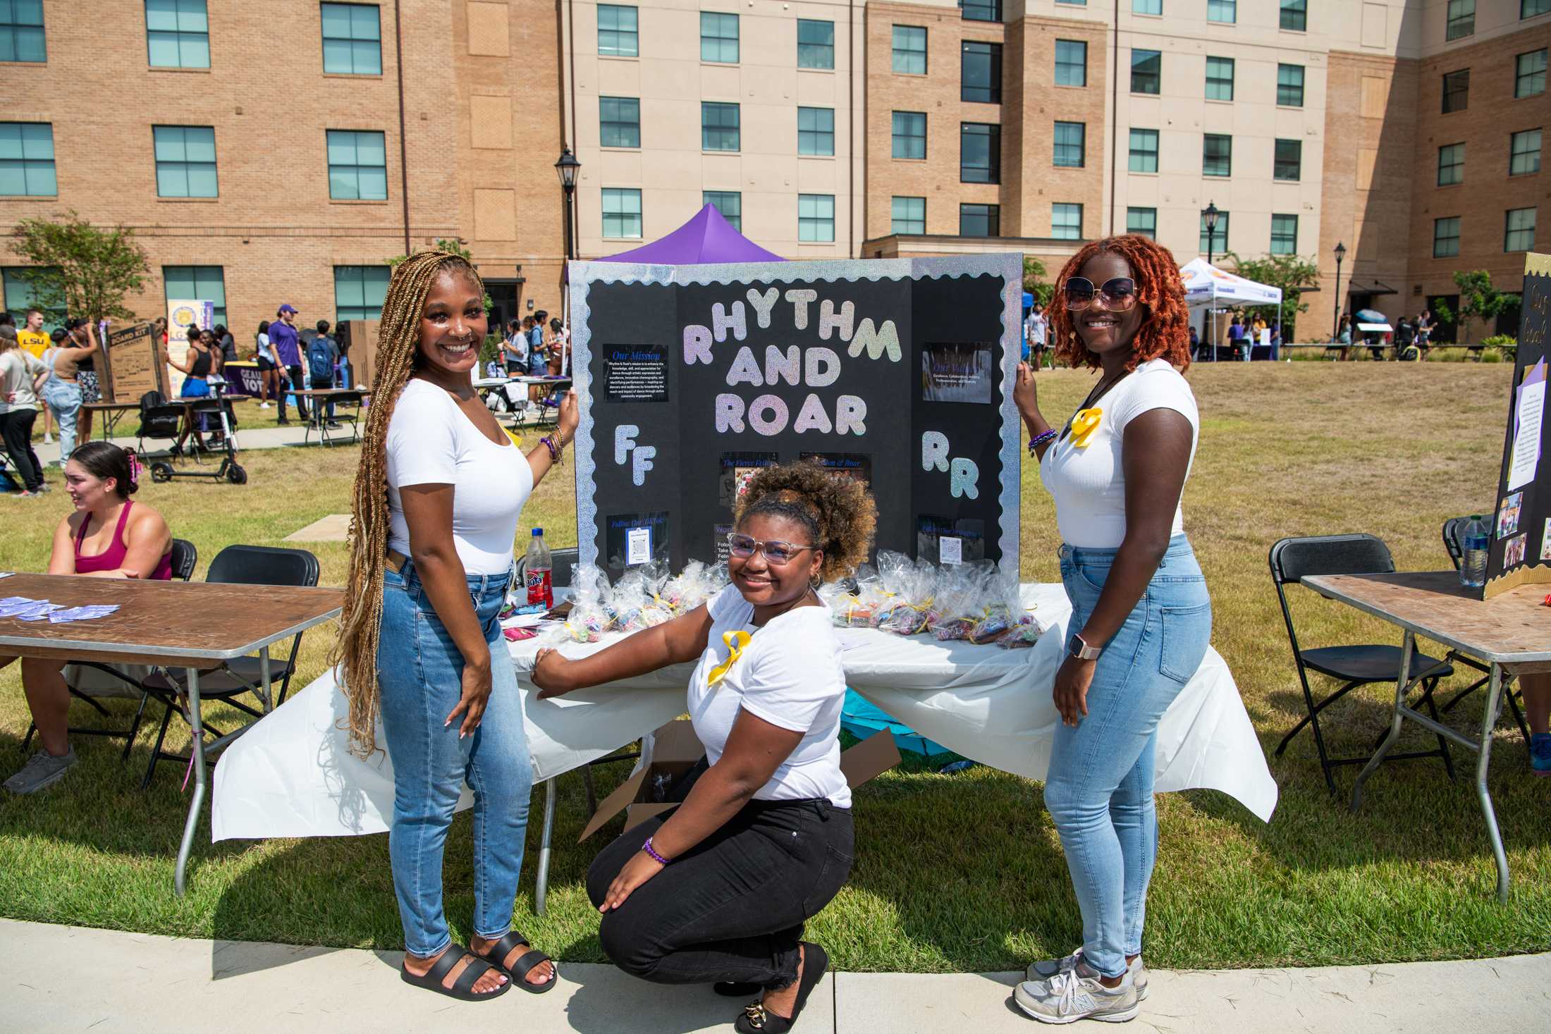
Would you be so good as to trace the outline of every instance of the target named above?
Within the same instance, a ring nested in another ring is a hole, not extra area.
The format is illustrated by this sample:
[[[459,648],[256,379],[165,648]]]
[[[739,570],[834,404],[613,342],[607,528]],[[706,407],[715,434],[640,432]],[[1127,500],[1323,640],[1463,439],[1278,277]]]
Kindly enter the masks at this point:
[[[1061,547],[1061,580],[1081,631],[1115,561],[1114,549]],[[1061,834],[1083,910],[1083,958],[1104,977],[1142,953],[1148,881],[1157,859],[1152,806],[1159,719],[1200,667],[1211,639],[1207,580],[1176,535],[1152,581],[1104,646],[1087,716],[1056,726],[1045,808]]]

